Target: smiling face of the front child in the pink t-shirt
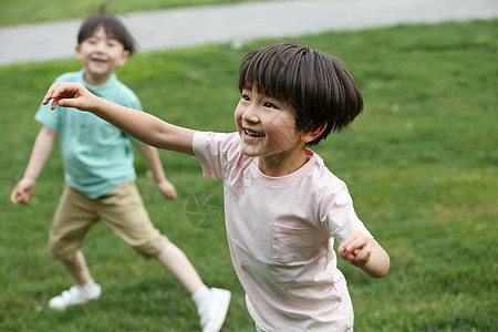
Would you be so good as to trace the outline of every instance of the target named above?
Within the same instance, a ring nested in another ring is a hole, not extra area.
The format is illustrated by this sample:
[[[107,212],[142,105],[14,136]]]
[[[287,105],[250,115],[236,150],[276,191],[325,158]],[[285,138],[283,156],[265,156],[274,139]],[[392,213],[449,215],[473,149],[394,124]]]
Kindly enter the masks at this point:
[[[235,121],[242,154],[258,156],[264,174],[286,175],[308,160],[304,147],[310,133],[297,129],[295,114],[289,104],[245,89]]]

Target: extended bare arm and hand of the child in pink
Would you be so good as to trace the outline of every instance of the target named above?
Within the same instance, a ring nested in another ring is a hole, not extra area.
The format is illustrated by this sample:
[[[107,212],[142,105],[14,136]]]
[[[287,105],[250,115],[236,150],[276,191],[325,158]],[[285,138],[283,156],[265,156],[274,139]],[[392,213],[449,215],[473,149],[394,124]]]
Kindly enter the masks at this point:
[[[193,129],[172,125],[145,112],[97,97],[80,83],[53,84],[46,92],[43,104],[49,104],[50,100],[52,100],[52,110],[59,105],[92,112],[148,145],[194,155]]]

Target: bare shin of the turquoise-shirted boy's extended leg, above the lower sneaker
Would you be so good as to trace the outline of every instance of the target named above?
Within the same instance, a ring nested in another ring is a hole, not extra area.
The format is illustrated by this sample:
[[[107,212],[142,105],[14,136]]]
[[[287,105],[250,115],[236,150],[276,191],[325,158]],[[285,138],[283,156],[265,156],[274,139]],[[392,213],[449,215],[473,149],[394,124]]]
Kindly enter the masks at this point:
[[[176,279],[178,279],[190,295],[196,293],[204,286],[204,282],[194,266],[185,253],[174,243],[169,242],[166,245],[163,251],[157,256],[157,260],[160,261]]]

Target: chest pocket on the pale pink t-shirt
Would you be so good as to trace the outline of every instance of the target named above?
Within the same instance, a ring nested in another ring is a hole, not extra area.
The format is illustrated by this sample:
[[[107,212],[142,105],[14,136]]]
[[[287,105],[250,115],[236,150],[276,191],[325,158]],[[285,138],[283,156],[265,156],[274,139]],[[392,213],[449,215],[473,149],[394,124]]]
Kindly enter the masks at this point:
[[[317,253],[317,249],[322,246],[325,238],[328,235],[309,226],[273,224],[273,259],[280,263],[309,260],[313,253]]]

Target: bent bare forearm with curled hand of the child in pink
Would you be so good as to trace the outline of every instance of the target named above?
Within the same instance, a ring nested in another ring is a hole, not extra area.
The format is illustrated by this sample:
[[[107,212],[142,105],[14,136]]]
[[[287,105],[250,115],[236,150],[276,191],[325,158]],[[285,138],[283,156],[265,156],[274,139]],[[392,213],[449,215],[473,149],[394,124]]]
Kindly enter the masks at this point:
[[[391,266],[390,256],[374,239],[353,231],[338,248],[339,255],[372,278],[384,277]]]

